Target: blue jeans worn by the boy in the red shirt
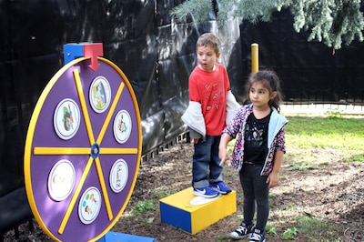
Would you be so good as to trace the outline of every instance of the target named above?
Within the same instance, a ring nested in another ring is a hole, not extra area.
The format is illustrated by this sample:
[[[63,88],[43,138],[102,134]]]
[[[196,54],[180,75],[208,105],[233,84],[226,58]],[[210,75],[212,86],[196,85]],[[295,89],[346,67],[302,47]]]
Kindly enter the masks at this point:
[[[192,187],[208,187],[210,183],[222,181],[223,166],[219,166],[218,144],[221,136],[206,136],[198,140],[192,163]]]

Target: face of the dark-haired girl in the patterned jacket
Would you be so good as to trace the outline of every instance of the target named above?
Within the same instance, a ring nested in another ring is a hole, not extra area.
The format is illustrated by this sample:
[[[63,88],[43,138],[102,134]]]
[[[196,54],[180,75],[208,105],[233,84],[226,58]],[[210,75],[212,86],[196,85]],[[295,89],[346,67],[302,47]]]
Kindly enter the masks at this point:
[[[263,85],[263,82],[256,81],[250,86],[249,99],[254,106],[260,108],[268,107],[269,100],[276,96],[277,92],[269,93],[268,88]]]

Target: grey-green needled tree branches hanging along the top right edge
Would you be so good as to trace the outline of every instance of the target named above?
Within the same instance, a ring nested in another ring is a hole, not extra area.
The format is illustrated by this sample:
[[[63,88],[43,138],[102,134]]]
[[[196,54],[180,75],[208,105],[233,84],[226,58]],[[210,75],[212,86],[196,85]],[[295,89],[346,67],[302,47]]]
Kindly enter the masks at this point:
[[[268,22],[274,12],[288,8],[296,32],[310,31],[308,41],[316,39],[335,52],[342,44],[350,45],[355,37],[363,41],[360,5],[360,0],[187,0],[175,6],[170,15],[178,21],[191,18],[194,23],[201,23],[214,13],[217,25],[222,26],[231,17],[251,23]]]

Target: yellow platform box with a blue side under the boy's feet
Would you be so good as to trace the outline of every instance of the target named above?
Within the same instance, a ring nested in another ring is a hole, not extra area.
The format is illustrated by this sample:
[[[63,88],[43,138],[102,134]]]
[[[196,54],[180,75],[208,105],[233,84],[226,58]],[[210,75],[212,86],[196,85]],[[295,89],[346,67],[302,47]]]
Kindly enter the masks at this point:
[[[196,197],[192,187],[159,200],[160,220],[195,235],[237,212],[237,192],[215,198]]]

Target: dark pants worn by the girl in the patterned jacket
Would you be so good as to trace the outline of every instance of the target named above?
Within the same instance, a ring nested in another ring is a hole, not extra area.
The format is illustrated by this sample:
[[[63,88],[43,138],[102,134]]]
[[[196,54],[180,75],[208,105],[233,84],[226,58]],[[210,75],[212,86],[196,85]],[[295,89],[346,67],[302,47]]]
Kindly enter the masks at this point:
[[[260,176],[262,168],[262,165],[244,164],[239,176],[244,193],[244,222],[253,224],[257,203],[256,227],[265,231],[269,215],[269,184],[268,176]]]

